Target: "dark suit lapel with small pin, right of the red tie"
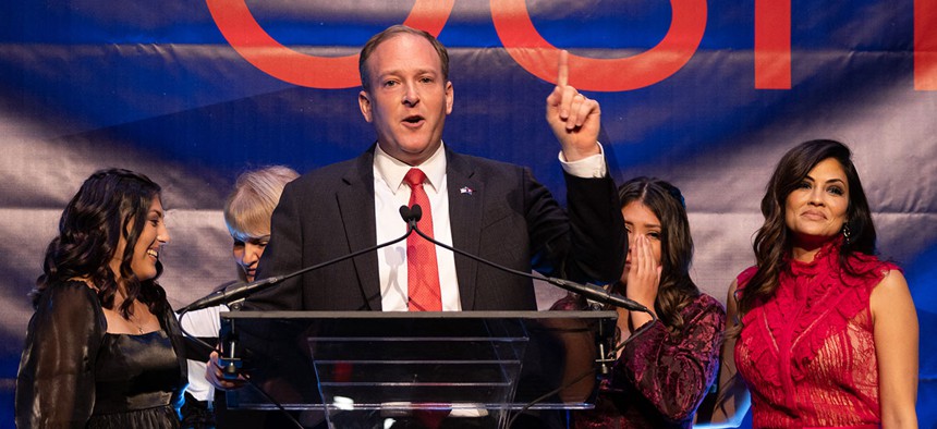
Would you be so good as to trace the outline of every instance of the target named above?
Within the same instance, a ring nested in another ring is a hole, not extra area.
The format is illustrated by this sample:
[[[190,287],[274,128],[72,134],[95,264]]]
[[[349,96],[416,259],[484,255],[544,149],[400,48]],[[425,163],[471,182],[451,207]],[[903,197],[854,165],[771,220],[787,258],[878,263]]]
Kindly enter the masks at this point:
[[[470,159],[446,147],[446,174],[449,189],[449,222],[452,245],[472,255],[478,254],[484,184],[475,175]],[[475,309],[475,277],[478,262],[455,255],[455,277],[463,310]]]

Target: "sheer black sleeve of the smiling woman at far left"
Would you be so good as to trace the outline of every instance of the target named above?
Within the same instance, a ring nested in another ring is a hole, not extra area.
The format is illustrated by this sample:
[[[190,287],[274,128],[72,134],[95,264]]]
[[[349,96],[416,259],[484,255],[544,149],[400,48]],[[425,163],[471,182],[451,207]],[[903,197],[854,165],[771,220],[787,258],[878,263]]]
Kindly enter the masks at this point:
[[[16,426],[84,428],[107,321],[83,282],[51,285],[29,320],[16,377]]]

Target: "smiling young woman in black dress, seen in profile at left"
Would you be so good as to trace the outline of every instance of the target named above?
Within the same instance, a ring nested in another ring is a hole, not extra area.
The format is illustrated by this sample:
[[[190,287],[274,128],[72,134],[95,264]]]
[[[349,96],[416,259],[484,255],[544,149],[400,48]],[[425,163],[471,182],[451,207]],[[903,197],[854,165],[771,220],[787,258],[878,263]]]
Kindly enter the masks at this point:
[[[156,282],[169,240],[159,185],[117,169],[85,181],[32,293],[17,427],[179,427],[185,356]]]

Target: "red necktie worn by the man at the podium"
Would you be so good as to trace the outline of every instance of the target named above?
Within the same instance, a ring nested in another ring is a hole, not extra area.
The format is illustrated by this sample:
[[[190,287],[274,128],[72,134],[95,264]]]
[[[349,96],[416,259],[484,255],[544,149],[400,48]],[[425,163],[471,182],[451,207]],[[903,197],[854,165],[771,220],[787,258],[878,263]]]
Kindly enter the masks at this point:
[[[426,174],[417,169],[410,169],[403,181],[410,185],[410,207],[418,204],[423,217],[416,226],[427,236],[433,236],[433,212],[429,209],[429,198],[423,191]],[[410,298],[407,308],[411,311],[441,311],[442,295],[439,291],[439,267],[436,265],[436,245],[415,232],[406,237],[406,289]]]

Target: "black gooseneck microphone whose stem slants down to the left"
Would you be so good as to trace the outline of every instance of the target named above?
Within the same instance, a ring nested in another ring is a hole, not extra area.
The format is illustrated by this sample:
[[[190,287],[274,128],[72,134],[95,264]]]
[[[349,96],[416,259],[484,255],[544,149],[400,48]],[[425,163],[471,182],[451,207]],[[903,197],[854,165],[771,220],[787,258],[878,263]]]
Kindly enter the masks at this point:
[[[207,296],[202,297],[199,299],[196,299],[194,303],[192,303],[185,307],[182,307],[177,312],[181,315],[181,314],[199,310],[199,309],[207,308],[207,307],[214,307],[214,306],[219,305],[219,304],[231,304],[235,301],[246,298],[247,296],[251,296],[252,294],[254,294],[256,292],[260,292],[260,291],[264,291],[264,290],[269,289],[271,286],[275,286],[275,285],[279,284],[280,282],[282,282],[283,280],[291,279],[291,278],[294,278],[296,275],[304,274],[306,272],[314,271],[314,270],[317,270],[319,268],[328,267],[332,263],[338,263],[338,262],[341,262],[345,259],[351,259],[351,258],[354,258],[356,256],[364,255],[368,252],[374,252],[374,250],[377,250],[381,247],[387,247],[387,246],[390,246],[392,244],[399,243],[399,242],[405,240],[407,236],[410,236],[410,234],[413,233],[414,230],[416,230],[416,222],[419,220],[419,218],[423,217],[423,210],[419,208],[419,206],[414,205],[414,207],[416,207],[416,210],[413,210],[406,206],[400,207],[400,217],[403,218],[403,220],[406,222],[406,233],[404,233],[399,238],[394,238],[394,240],[391,240],[387,243],[381,243],[381,244],[378,244],[376,246],[372,246],[372,247],[367,247],[367,248],[364,248],[364,249],[361,249],[357,252],[353,252],[351,254],[340,256],[338,258],[327,260],[327,261],[321,262],[321,263],[309,266],[309,267],[303,268],[301,270],[291,272],[289,274],[272,275],[272,277],[268,277],[266,279],[255,280],[255,281],[250,282],[250,283],[235,284],[235,285],[229,286],[224,290],[208,294]]]

